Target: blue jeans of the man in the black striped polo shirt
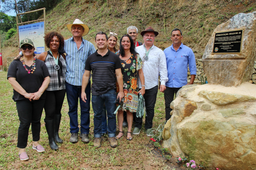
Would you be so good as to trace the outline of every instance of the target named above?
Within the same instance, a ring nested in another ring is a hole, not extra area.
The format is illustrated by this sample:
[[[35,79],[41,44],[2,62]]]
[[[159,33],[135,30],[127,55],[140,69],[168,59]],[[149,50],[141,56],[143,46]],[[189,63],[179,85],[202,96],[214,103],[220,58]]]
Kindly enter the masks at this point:
[[[111,89],[105,94],[92,95],[92,106],[94,112],[94,137],[102,136],[102,112],[105,103],[108,116],[108,137],[116,136],[116,89]]]

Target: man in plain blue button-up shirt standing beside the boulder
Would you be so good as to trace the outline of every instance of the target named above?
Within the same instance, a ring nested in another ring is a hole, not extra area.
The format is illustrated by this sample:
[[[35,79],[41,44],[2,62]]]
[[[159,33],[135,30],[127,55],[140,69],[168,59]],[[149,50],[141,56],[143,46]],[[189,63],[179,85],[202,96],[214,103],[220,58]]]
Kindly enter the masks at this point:
[[[166,82],[166,90],[164,91],[164,100],[166,106],[166,121],[171,118],[170,104],[173,101],[174,94],[183,85],[192,85],[196,75],[195,55],[191,48],[183,45],[181,42],[183,36],[180,29],[172,30],[172,45],[163,52],[166,55],[168,82]],[[187,72],[191,74],[190,82],[187,83]]]

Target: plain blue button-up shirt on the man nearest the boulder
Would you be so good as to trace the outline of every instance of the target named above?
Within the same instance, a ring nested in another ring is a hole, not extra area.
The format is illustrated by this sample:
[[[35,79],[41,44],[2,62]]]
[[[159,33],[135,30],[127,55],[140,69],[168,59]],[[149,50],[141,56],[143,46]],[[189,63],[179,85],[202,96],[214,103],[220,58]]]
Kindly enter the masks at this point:
[[[196,75],[195,55],[191,48],[181,43],[175,51],[173,45],[163,51],[166,55],[169,88],[180,88],[187,84],[188,65],[190,74]]]

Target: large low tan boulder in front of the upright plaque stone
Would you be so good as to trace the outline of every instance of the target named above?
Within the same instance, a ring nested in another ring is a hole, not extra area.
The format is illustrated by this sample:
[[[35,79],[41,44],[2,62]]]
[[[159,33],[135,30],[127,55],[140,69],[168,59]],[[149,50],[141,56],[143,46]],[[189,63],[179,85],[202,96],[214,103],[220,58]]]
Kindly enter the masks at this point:
[[[256,170],[256,85],[188,85],[172,102],[163,147],[208,169]]]

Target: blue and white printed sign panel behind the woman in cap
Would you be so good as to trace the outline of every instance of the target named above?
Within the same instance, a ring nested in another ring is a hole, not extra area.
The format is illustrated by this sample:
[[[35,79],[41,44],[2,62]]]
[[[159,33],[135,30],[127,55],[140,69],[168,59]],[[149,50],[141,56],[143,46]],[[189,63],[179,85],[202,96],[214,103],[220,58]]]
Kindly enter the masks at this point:
[[[44,52],[44,22],[19,26],[19,38],[28,38],[35,45],[35,54]]]

